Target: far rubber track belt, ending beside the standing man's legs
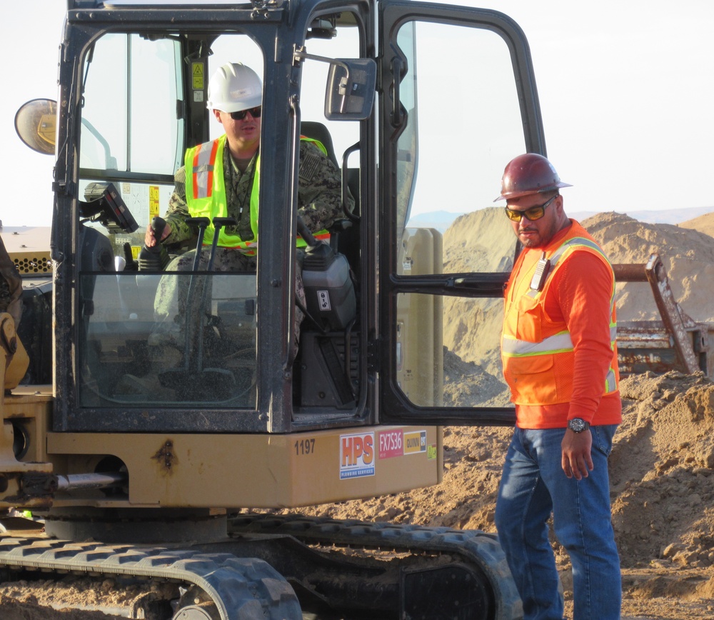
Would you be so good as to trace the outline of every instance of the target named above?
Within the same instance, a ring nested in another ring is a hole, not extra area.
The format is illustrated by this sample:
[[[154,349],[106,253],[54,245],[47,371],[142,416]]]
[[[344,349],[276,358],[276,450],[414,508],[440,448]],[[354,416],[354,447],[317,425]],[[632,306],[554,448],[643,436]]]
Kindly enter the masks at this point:
[[[295,514],[241,514],[228,522],[228,531],[254,534],[286,534],[305,543],[337,544],[363,549],[389,549],[460,556],[476,564],[488,579],[496,601],[496,620],[523,618],[506,556],[495,534],[480,530],[398,525],[388,522],[338,520]]]

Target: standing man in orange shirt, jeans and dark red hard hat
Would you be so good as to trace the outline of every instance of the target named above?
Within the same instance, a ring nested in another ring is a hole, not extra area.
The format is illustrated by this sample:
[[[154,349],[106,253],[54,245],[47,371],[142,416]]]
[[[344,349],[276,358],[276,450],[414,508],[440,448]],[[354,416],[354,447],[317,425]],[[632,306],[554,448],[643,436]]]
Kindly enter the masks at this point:
[[[523,244],[506,286],[501,355],[516,429],[496,503],[498,539],[526,620],[560,620],[548,541],[573,566],[574,620],[620,617],[608,455],[622,421],[615,276],[603,250],[563,210],[558,173],[525,154],[503,173],[506,215]],[[496,200],[498,200],[496,199]]]

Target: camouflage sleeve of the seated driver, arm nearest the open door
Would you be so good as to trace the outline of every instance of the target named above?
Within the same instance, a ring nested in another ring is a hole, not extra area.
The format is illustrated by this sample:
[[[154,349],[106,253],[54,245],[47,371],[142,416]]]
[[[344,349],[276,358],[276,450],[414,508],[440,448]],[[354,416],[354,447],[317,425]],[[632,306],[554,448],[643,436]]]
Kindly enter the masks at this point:
[[[354,200],[348,192],[348,209]],[[343,216],[340,171],[311,142],[300,142],[298,214],[313,232],[327,228]]]

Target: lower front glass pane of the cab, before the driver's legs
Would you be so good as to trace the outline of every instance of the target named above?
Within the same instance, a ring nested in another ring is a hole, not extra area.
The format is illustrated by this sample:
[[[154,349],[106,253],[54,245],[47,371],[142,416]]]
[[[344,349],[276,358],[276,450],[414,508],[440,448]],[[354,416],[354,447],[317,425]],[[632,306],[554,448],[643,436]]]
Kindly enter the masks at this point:
[[[84,274],[80,289],[81,406],[255,408],[255,274]]]

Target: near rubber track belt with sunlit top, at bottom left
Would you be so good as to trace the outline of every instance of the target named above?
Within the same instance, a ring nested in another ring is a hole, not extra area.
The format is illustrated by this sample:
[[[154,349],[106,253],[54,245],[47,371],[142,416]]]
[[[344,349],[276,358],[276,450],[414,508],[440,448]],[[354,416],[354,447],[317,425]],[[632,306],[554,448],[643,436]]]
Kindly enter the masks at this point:
[[[0,539],[0,564],[51,571],[135,575],[196,584],[221,620],[302,619],[288,582],[266,562],[233,554],[54,539]]]

